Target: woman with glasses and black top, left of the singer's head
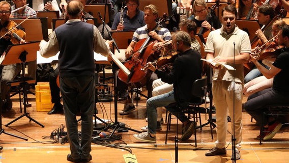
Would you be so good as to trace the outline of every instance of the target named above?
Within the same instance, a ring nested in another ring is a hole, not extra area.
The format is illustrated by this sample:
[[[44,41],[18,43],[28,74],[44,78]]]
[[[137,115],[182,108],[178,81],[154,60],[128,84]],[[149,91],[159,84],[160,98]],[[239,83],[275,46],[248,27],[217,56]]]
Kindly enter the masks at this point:
[[[198,27],[203,27],[210,31],[221,28],[220,19],[212,14],[212,17],[206,20],[208,15],[208,6],[205,0],[195,0],[193,3],[194,18],[192,19]]]

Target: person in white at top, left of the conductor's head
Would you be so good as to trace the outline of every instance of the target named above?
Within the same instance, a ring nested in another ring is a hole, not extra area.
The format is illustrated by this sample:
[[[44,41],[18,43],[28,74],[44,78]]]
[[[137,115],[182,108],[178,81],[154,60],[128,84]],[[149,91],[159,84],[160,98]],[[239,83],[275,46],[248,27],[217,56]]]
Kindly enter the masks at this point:
[[[59,11],[59,15],[61,15],[61,10],[56,0],[33,1],[32,8],[35,11]]]

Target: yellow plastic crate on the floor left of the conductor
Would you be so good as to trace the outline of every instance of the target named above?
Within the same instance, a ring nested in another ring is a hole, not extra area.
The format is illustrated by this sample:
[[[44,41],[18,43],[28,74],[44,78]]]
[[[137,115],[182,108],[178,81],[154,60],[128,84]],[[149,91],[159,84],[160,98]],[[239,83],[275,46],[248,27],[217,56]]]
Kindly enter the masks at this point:
[[[36,111],[49,112],[53,107],[49,83],[40,83],[35,86]]]

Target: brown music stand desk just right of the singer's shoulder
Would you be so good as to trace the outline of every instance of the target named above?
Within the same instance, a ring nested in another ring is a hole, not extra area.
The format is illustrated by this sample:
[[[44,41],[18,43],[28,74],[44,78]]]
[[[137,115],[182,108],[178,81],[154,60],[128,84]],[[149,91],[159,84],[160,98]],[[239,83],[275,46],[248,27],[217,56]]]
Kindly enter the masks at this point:
[[[258,23],[257,20],[242,20],[242,19],[237,19],[236,20],[236,25],[238,25],[240,30],[243,30],[247,32],[249,35],[250,41],[254,39],[255,32],[261,28],[260,24]]]

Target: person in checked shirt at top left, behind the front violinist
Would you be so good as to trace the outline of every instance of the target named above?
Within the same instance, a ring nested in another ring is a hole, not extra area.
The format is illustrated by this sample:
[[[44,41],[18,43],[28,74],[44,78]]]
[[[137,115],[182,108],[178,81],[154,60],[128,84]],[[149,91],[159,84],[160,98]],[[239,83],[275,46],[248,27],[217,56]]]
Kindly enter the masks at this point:
[[[14,6],[11,7],[12,10],[18,9],[26,5],[26,0],[13,0]],[[13,12],[10,17],[11,18],[27,18],[30,17],[36,17],[36,11],[32,8],[26,6],[16,12]]]

